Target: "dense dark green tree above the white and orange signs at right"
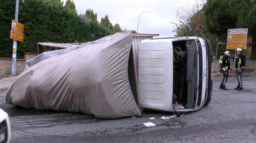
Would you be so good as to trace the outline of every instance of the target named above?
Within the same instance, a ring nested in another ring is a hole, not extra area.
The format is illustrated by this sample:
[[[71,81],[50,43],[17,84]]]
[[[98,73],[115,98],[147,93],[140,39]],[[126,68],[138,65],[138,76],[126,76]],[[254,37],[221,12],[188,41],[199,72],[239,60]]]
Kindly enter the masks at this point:
[[[207,0],[205,26],[212,34],[227,35],[227,29],[248,28],[252,38],[251,60],[256,60],[256,5],[252,0]]]

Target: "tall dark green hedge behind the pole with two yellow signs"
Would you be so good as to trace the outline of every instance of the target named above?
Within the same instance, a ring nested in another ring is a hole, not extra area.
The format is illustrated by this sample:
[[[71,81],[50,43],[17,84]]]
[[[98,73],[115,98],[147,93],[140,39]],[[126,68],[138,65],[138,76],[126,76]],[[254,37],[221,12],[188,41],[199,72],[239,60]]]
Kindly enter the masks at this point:
[[[25,36],[24,42],[18,41],[17,54],[36,52],[38,42],[86,42],[112,34],[97,20],[90,21],[85,14],[78,15],[74,7],[67,4],[63,6],[61,0],[20,0],[19,22],[25,26]],[[0,56],[12,55],[10,31],[15,6],[13,0],[0,0]],[[95,19],[97,14],[94,18],[90,16]]]

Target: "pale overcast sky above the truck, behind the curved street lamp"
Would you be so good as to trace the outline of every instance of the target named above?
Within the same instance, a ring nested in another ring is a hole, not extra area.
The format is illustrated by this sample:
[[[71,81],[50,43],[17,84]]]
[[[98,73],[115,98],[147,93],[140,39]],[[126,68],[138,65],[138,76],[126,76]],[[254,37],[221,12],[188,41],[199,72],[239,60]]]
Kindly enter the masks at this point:
[[[174,36],[171,22],[178,22],[174,16],[176,9],[187,7],[194,0],[73,0],[77,12],[85,13],[93,9],[100,18],[108,14],[110,22],[119,23],[121,29],[136,30],[138,18],[139,33],[163,34],[161,37]],[[160,36],[159,36],[160,37]]]

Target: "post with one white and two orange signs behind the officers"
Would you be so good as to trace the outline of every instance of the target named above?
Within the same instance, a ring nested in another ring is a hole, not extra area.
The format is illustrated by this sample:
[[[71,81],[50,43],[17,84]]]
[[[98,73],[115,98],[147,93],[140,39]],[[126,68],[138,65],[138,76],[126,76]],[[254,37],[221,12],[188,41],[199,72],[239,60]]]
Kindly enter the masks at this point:
[[[227,30],[227,49],[246,49],[248,28],[237,28]],[[236,70],[236,52],[234,54],[233,73]]]

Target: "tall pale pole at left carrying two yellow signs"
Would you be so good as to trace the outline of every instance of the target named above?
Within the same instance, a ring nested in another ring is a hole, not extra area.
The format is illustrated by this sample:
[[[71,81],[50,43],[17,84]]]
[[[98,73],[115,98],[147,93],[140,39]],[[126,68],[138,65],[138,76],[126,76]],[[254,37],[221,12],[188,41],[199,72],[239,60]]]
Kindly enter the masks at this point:
[[[19,0],[16,0],[16,9],[15,9],[15,21],[18,22],[19,15]],[[12,75],[16,75],[16,59],[17,57],[17,40],[13,39],[13,48],[12,48]]]

